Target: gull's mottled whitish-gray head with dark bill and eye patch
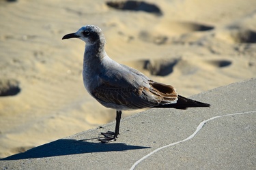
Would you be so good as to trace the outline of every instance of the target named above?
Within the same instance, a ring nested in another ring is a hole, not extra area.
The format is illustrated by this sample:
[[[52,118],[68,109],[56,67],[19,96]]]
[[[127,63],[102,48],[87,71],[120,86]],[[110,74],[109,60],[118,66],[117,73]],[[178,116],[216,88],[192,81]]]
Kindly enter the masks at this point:
[[[94,25],[86,25],[79,29],[76,33],[64,35],[62,39],[79,38],[85,41],[87,45],[95,44],[97,42],[105,43],[104,35],[101,29]]]

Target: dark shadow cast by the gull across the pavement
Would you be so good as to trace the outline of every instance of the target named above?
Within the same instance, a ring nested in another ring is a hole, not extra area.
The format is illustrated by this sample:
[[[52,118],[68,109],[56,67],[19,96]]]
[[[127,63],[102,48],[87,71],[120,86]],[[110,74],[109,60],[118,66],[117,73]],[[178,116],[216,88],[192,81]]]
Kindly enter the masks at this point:
[[[19,160],[26,158],[43,158],[52,156],[63,156],[71,154],[85,154],[92,152],[119,152],[124,150],[139,150],[150,147],[129,146],[125,143],[100,143],[88,142],[89,139],[59,139],[42,146],[32,148],[26,152],[15,154],[1,160]]]

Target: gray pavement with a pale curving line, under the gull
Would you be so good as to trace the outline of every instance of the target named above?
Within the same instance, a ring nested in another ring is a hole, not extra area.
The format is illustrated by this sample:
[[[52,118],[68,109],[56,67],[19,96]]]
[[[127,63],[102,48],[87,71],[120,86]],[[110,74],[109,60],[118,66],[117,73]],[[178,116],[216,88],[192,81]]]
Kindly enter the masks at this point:
[[[122,119],[113,143],[98,137],[115,122],[4,158],[0,168],[256,169],[256,79],[190,98],[211,107],[149,109]]]

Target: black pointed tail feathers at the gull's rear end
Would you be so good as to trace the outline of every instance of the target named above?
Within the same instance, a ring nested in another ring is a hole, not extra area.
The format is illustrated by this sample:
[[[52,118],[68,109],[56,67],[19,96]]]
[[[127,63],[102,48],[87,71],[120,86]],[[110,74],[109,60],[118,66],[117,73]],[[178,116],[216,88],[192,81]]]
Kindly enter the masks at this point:
[[[208,103],[201,103],[199,101],[194,101],[192,99],[188,99],[186,97],[182,97],[182,96],[178,95],[177,103],[169,104],[169,105],[156,105],[154,107],[186,109],[188,107],[210,107],[210,104],[208,104]]]

